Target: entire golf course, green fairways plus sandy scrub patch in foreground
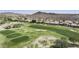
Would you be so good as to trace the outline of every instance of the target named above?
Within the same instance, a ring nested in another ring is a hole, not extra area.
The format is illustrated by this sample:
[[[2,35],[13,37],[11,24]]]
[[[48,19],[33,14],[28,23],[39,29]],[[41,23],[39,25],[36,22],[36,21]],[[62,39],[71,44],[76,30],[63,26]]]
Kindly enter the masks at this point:
[[[79,47],[79,28],[22,22],[19,27],[0,30],[0,47]]]

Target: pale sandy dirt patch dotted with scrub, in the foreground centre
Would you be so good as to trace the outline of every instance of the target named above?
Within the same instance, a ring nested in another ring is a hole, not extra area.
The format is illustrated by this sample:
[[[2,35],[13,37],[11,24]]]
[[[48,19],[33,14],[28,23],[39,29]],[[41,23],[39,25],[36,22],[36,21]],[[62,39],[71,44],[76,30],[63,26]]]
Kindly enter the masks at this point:
[[[40,36],[29,47],[49,48],[58,38],[54,36]]]

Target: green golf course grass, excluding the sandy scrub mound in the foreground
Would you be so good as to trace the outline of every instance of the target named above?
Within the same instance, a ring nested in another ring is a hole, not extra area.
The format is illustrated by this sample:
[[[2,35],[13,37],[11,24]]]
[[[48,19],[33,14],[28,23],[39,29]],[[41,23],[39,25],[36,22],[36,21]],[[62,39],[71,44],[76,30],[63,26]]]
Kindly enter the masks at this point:
[[[70,41],[75,43],[79,42],[79,29],[58,25],[24,23],[19,28],[1,30],[0,47],[28,47],[40,36],[53,36],[58,40],[63,40],[64,42]],[[62,45],[67,47],[67,44],[66,46],[64,44]],[[36,47],[38,46],[36,45]]]

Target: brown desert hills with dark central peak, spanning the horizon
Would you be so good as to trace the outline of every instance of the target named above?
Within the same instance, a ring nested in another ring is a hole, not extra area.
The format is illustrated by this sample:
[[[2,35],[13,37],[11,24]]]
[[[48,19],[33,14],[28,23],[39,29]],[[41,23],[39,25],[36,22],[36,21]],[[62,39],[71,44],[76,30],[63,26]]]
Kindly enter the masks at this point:
[[[48,19],[48,20],[78,20],[79,21],[79,14],[57,14],[57,13],[46,13],[46,12],[36,12],[33,14],[18,14],[13,12],[4,12],[0,13],[0,20],[1,18],[12,18],[13,20],[27,20],[27,19]]]

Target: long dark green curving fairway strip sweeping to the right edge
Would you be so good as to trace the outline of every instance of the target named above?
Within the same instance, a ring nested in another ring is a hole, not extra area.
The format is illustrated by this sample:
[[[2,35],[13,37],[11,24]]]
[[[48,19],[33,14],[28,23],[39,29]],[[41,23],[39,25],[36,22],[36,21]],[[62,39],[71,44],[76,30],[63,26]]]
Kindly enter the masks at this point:
[[[57,26],[55,27],[55,26],[43,26],[43,25],[31,25],[30,27],[53,31],[53,32],[59,33],[61,35],[69,37],[70,41],[79,42],[79,33],[70,31],[69,29],[65,29],[65,27],[59,28]]]

